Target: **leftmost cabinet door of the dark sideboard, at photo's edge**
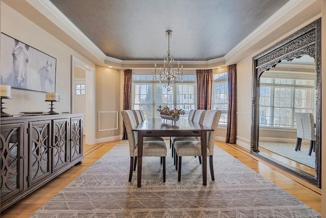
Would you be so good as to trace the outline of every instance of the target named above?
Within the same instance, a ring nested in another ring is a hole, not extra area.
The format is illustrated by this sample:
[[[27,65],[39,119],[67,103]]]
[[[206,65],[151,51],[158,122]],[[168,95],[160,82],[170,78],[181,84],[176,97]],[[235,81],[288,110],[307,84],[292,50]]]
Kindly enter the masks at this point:
[[[23,124],[1,125],[1,202],[23,189]]]

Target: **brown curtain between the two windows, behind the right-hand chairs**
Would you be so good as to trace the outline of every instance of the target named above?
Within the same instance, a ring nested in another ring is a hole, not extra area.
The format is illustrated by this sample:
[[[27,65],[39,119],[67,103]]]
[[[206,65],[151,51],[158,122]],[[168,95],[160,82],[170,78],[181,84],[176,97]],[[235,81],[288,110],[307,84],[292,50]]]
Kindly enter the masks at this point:
[[[212,99],[213,70],[196,70],[197,109],[210,110]]]

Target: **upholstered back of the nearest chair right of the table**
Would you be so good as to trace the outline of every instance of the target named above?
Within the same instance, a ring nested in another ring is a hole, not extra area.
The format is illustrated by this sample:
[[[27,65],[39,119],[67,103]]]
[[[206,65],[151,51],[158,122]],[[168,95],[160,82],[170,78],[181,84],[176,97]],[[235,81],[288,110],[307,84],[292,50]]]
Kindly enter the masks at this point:
[[[221,114],[222,111],[216,111],[216,110],[207,110],[205,113],[203,126],[208,126],[214,129],[214,131],[207,132],[207,148],[210,151],[210,155],[213,154],[216,130],[218,129],[218,124],[219,124]]]

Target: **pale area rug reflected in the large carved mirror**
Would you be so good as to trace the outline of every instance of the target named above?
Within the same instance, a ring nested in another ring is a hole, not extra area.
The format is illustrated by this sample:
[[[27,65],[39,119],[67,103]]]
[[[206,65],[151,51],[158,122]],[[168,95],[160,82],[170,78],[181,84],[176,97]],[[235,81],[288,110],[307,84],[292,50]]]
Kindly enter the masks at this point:
[[[259,141],[259,146],[308,167],[315,168],[315,152],[312,152],[311,156],[308,155],[310,145],[302,144],[300,151],[295,151],[295,144],[291,143]]]

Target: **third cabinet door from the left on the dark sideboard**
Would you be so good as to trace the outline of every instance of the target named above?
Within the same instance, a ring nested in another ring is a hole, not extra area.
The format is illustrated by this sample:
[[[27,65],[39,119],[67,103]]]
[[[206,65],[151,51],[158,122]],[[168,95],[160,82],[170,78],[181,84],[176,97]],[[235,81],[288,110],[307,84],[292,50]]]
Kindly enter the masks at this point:
[[[52,124],[52,172],[55,172],[68,163],[68,119],[53,120]]]

